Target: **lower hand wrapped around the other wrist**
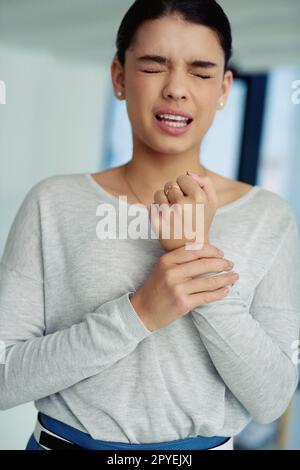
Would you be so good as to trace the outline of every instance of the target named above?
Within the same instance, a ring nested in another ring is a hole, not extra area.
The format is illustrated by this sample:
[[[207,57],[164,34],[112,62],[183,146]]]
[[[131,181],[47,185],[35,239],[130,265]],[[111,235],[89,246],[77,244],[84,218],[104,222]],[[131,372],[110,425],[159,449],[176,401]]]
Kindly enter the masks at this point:
[[[204,244],[200,250],[185,246],[163,254],[145,283],[130,297],[133,308],[155,331],[186,315],[199,305],[221,300],[224,287],[237,281],[233,272],[195,278],[207,273],[232,270],[219,250]]]

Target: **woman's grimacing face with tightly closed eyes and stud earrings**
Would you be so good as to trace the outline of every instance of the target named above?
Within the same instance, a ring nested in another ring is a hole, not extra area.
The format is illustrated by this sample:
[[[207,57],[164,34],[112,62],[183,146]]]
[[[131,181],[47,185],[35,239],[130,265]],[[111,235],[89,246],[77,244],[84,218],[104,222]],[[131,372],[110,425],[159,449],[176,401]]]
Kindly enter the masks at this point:
[[[141,59],[146,55],[161,59]],[[215,65],[192,65],[195,61]],[[218,37],[206,26],[178,15],[143,23],[126,51],[124,69],[116,59],[111,68],[115,92],[126,99],[134,146],[172,154],[197,151],[232,84],[224,62]],[[161,108],[185,112],[193,121],[183,134],[171,135],[156,122]]]

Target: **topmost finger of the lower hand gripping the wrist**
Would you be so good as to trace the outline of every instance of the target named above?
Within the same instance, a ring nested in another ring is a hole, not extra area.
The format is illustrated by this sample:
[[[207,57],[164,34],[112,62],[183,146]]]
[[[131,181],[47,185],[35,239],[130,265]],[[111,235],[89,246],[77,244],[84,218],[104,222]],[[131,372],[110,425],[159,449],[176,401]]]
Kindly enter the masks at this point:
[[[202,245],[192,244],[194,247],[199,247],[198,249],[187,250],[185,246],[176,248],[163,255],[164,260],[167,264],[182,264],[188,261],[193,261],[200,258],[223,258],[224,253],[220,251],[217,247],[210,245],[209,243],[204,243]]]

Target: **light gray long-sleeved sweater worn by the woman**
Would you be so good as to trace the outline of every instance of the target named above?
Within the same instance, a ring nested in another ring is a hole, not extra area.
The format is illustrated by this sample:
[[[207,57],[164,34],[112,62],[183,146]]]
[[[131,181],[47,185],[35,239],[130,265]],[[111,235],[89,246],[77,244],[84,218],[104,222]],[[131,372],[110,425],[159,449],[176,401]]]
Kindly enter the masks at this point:
[[[129,294],[164,249],[99,240],[97,207],[118,202],[89,174],[27,193],[0,265],[1,409],[33,400],[95,439],[126,443],[233,436],[252,418],[278,418],[298,380],[300,239],[288,203],[255,186],[219,208],[210,242],[240,279],[224,300],[151,332]]]

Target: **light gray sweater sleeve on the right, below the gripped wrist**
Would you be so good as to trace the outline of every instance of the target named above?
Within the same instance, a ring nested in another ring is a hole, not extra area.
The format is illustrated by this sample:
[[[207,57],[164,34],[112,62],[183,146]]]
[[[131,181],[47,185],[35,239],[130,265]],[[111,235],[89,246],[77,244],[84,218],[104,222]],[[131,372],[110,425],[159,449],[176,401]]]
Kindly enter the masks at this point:
[[[262,424],[283,414],[297,387],[299,266],[300,238],[292,217],[249,313],[246,304],[230,298],[211,303],[222,308],[200,306],[191,312],[225,385]]]

